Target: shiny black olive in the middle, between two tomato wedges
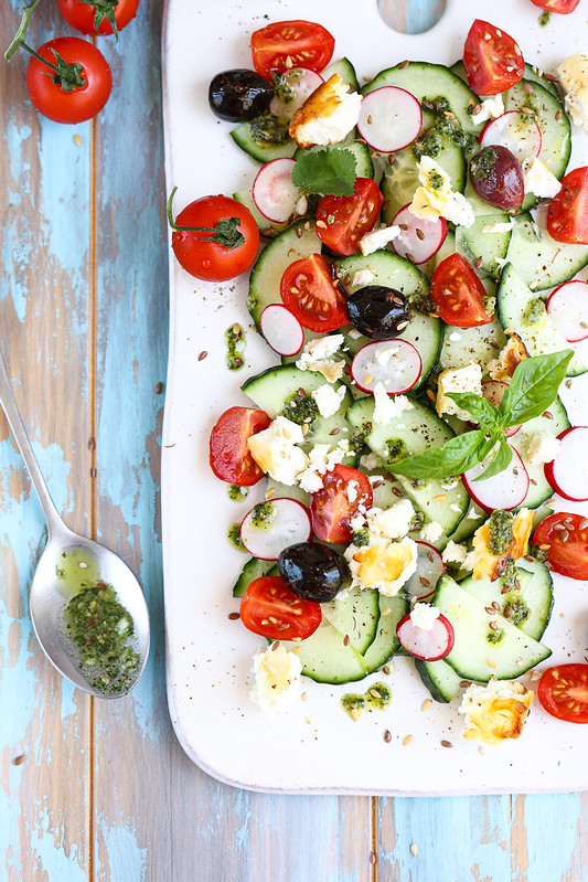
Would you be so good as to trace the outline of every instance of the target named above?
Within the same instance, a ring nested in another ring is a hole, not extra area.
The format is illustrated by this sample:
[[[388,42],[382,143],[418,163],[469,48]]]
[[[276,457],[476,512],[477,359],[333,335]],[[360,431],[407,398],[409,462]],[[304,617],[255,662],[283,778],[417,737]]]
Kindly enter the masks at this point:
[[[348,316],[353,327],[372,340],[392,340],[410,321],[404,294],[383,285],[367,285],[352,294]]]

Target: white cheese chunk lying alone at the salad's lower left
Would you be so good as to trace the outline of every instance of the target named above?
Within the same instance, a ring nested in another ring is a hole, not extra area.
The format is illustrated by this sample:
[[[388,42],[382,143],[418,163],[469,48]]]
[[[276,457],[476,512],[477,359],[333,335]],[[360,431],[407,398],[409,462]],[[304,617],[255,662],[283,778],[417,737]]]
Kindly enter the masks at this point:
[[[258,649],[253,659],[250,700],[264,711],[284,713],[298,697],[301,670],[300,659],[284,644],[275,642],[265,652]]]

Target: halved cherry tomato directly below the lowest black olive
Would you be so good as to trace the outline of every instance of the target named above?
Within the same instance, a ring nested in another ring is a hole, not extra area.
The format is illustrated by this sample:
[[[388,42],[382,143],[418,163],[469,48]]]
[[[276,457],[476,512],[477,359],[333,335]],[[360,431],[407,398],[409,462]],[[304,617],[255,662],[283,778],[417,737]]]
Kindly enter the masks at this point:
[[[281,576],[254,580],[240,602],[240,620],[268,640],[304,640],[322,621],[321,605],[298,597]]]

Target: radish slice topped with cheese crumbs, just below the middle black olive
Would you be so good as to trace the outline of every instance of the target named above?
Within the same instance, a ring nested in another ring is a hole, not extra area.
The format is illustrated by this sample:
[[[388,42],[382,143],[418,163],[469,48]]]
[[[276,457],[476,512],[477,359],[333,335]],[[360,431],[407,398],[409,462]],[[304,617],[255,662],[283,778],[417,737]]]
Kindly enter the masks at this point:
[[[420,355],[407,340],[376,340],[360,349],[351,363],[351,376],[362,392],[383,383],[388,395],[413,389],[423,372]]]

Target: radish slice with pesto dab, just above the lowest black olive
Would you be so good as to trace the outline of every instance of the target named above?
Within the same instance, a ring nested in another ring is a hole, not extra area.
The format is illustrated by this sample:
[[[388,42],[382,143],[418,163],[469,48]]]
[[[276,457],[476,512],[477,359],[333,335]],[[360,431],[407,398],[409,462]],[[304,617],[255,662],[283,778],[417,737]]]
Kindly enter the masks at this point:
[[[264,503],[269,517],[257,523],[255,506],[240,524],[240,541],[254,557],[277,561],[284,549],[309,542],[312,535],[310,512],[296,499],[271,499]]]

